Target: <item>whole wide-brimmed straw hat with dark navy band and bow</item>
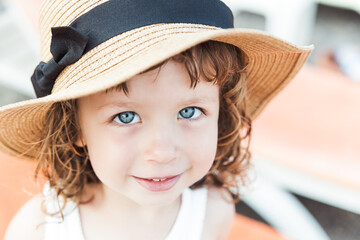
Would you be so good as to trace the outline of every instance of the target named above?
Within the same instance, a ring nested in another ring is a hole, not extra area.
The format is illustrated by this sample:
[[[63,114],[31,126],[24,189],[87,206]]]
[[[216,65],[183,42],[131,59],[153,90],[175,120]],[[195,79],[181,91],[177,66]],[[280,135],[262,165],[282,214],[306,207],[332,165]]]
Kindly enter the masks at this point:
[[[35,155],[29,143],[41,140],[52,103],[118,85],[201,42],[221,41],[245,53],[252,119],[313,48],[234,29],[231,10],[219,0],[47,0],[40,34],[42,62],[32,76],[38,98],[0,108],[0,151],[24,158]]]

